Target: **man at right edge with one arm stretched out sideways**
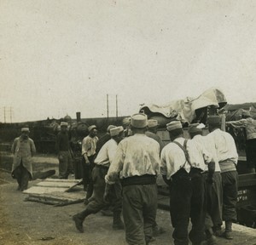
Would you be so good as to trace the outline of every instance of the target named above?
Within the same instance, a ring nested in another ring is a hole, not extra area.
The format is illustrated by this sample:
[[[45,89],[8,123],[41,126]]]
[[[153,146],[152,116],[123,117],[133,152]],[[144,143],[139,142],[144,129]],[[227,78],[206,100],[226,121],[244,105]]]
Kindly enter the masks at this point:
[[[234,128],[245,128],[246,131],[246,154],[247,169],[249,173],[255,173],[256,168],[256,120],[251,116],[250,111],[243,111],[242,119],[226,122]]]

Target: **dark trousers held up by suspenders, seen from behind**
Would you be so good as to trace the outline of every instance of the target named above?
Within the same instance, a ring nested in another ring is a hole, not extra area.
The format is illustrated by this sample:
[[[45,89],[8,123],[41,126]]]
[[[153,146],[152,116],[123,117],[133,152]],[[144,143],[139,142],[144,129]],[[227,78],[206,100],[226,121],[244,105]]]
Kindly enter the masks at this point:
[[[191,168],[189,174],[181,168],[172,175],[170,191],[170,213],[174,231],[175,245],[188,245],[204,240],[206,207],[204,203],[205,186],[201,169]],[[192,230],[189,232],[189,218]]]

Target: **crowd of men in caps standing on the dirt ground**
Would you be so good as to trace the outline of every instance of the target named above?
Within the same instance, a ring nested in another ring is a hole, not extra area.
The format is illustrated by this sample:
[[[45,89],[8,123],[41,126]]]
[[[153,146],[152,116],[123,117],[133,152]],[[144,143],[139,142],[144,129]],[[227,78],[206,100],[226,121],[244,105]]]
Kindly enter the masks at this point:
[[[154,241],[154,236],[164,232],[155,221],[156,180],[163,178],[170,190],[175,245],[188,245],[189,240],[193,245],[214,245],[218,244],[216,236],[232,239],[238,177],[236,144],[229,133],[220,129],[221,117],[209,116],[207,124],[210,133],[206,136],[200,123],[190,124],[188,140],[180,121],[169,122],[166,129],[171,142],[167,145],[156,134],[158,122],[148,120],[143,113],[125,118],[123,126],[109,125],[100,139],[96,125],[90,126],[89,135],[82,141],[86,206],[73,215],[77,230],[84,232],[88,215],[111,208],[113,230],[125,229],[128,244]],[[36,150],[28,138],[29,128],[21,132],[12,147],[12,173],[23,191],[32,178],[31,158]],[[67,179],[72,173],[67,122],[61,122],[56,145],[60,178]],[[26,157],[20,156],[23,150]]]

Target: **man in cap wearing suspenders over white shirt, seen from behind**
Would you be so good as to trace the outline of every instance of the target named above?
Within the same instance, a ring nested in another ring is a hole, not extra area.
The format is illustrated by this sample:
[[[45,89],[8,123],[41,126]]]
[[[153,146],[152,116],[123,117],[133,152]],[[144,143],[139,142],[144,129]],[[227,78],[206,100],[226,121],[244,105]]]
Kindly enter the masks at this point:
[[[180,121],[166,125],[171,143],[161,152],[161,174],[170,187],[170,214],[175,245],[207,244],[204,241],[204,179],[201,172],[205,165],[214,164],[212,155],[205,149],[199,150],[192,140],[183,138]],[[189,231],[189,219],[192,229]]]

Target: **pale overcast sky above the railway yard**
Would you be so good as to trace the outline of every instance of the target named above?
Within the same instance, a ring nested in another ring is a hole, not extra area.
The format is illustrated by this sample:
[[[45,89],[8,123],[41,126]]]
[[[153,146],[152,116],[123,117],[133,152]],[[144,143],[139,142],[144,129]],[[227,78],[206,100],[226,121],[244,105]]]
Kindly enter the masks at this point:
[[[0,122],[256,102],[255,1],[0,0]],[[10,118],[10,108],[12,109]]]

